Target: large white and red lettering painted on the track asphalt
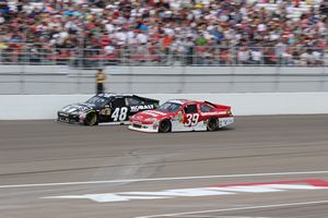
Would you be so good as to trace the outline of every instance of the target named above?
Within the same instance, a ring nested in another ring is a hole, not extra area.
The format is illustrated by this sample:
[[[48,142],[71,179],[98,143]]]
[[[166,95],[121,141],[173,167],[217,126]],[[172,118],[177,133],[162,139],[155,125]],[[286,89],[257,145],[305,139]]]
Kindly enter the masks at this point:
[[[163,190],[157,192],[120,192],[84,195],[63,195],[48,196],[44,198],[65,198],[65,199],[91,199],[98,203],[127,202],[132,199],[161,199],[174,197],[198,197],[218,196],[242,193],[272,193],[296,190],[324,190],[328,189],[328,181],[324,180],[298,180],[298,181],[278,181],[269,183],[244,183],[212,185],[208,187]]]

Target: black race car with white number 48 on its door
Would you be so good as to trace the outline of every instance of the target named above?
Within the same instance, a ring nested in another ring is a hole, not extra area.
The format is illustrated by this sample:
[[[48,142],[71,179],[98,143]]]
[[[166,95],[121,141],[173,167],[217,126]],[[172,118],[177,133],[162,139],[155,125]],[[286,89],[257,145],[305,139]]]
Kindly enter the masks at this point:
[[[74,104],[58,111],[57,121],[97,125],[99,123],[128,123],[134,113],[155,109],[159,100],[137,95],[98,94],[84,104]]]

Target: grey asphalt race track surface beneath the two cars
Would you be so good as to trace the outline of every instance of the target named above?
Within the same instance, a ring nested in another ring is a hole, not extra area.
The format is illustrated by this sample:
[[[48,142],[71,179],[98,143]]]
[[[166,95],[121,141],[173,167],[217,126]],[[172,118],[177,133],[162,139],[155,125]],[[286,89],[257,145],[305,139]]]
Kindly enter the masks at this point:
[[[327,185],[328,114],[169,134],[0,121],[1,218],[327,218],[328,186],[297,187],[306,181]],[[236,184],[248,191],[199,190]]]

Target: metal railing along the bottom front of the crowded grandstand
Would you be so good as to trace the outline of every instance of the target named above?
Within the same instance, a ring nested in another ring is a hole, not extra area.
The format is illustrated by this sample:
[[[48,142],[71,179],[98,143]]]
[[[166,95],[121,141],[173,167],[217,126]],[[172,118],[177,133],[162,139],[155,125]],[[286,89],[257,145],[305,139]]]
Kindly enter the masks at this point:
[[[2,44],[3,45],[3,44]],[[148,47],[80,49],[28,44],[0,48],[0,64],[69,65],[281,65],[326,66],[327,48],[294,47]]]

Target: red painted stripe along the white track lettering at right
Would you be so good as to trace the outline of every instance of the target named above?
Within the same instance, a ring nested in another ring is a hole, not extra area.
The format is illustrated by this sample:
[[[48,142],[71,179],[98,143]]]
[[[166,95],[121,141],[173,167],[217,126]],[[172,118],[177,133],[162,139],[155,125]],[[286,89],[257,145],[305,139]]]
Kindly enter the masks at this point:
[[[237,183],[237,184],[216,184],[213,187],[227,187],[227,186],[239,186],[239,185],[261,185],[261,184],[309,184],[313,186],[328,187],[328,181],[320,179],[308,179],[308,180],[292,180],[292,181],[273,181],[273,182],[260,182],[260,183]]]

